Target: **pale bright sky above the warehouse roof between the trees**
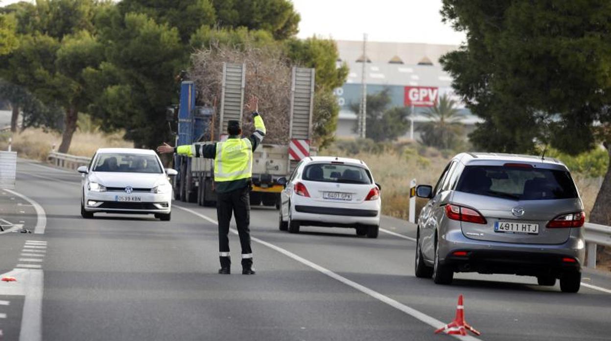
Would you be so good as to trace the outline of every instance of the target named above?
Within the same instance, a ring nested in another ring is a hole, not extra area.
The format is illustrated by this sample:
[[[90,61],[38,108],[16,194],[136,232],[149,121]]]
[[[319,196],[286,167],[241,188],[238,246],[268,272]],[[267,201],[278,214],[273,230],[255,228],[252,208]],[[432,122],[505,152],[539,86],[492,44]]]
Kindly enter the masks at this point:
[[[0,0],[7,5],[18,0]],[[299,38],[459,45],[465,38],[441,22],[441,0],[292,0]]]

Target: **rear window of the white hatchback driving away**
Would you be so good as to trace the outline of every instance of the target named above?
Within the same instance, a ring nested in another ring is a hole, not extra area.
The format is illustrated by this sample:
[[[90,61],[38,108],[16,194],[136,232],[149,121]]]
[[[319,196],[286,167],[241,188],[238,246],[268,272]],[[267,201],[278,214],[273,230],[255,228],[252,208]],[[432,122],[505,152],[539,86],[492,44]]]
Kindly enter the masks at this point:
[[[314,163],[308,165],[305,167],[302,178],[308,181],[371,184],[371,176],[368,170],[343,163]]]

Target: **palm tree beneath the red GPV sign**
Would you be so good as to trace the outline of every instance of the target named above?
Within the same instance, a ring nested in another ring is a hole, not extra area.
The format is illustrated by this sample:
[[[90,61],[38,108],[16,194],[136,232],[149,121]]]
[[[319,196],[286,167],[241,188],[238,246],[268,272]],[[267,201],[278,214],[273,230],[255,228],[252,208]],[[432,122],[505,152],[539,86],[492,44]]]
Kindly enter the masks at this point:
[[[428,108],[422,115],[428,121],[418,127],[420,141],[427,146],[450,149],[457,138],[463,134],[464,124],[460,122],[464,114],[456,109],[456,101],[443,95],[436,106]]]

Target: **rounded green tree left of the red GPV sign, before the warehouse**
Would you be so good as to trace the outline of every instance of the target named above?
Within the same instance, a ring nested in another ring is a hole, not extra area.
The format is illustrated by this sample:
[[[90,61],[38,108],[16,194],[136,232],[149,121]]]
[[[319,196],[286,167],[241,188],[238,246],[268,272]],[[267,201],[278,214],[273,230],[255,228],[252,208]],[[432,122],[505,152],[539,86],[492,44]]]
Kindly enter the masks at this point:
[[[410,110],[408,107],[390,107],[390,90],[385,88],[374,95],[367,95],[365,137],[375,142],[392,141],[408,131]],[[354,113],[359,112],[359,103],[350,104]]]

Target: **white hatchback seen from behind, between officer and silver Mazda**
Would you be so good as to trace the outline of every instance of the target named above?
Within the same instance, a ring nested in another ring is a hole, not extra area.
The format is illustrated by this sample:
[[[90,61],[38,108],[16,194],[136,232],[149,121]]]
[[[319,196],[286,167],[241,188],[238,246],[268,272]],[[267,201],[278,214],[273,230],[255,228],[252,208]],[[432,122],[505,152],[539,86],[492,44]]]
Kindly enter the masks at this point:
[[[355,228],[357,235],[377,238],[381,187],[367,165],[344,157],[306,157],[291,176],[279,179],[281,231],[301,226]]]

